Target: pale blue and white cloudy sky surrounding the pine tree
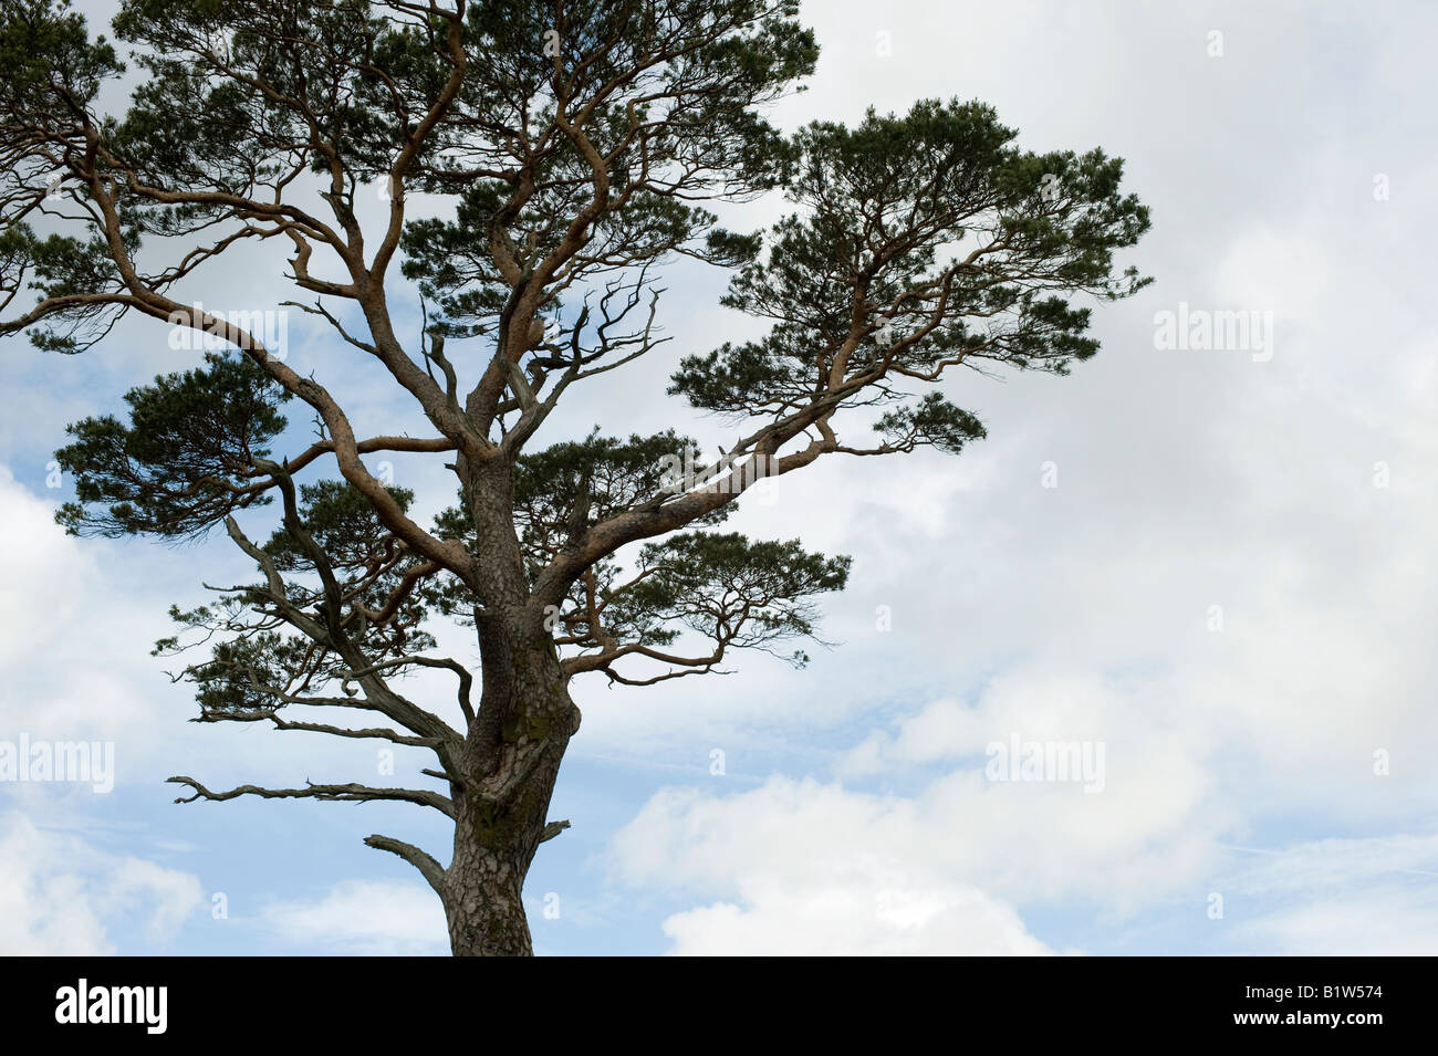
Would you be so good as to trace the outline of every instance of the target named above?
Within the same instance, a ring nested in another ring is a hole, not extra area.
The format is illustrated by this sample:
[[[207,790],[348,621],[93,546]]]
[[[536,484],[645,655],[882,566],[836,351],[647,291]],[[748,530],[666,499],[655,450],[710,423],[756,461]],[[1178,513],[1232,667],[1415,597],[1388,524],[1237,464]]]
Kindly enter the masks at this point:
[[[804,17],[821,57],[779,124],[978,98],[1030,149],[1102,147],[1153,214],[1122,263],[1156,282],[1096,307],[1103,348],[1067,378],[949,379],[988,428],[962,455],[825,460],[741,503],[733,527],[853,556],[823,599],[833,647],[804,671],[741,654],[725,677],[574,684],[584,724],[551,809],[572,828],[525,888],[536,953],[1438,953],[1438,9],[827,0]],[[260,256],[187,292],[293,297]],[[666,282],[673,341],[595,381],[552,438],[723,438],[666,378],[755,323],[718,305],[718,270]],[[1166,338],[1206,313],[1242,313],[1247,341]],[[308,318],[286,349],[358,418],[414,424]],[[0,782],[0,954],[444,954],[439,901],[361,842],[443,861],[431,812],[171,802],[173,774],[377,766],[367,741],[186,721],[150,649],[201,580],[252,575],[243,555],[53,523],[65,425],[196,356],[141,319],[82,356],[0,348],[0,743],[115,753],[108,790]],[[449,504],[443,471],[394,473],[421,510]],[[446,644],[473,655],[463,632]],[[1096,769],[1004,780],[1024,776],[997,766],[1015,741],[1083,746]]]

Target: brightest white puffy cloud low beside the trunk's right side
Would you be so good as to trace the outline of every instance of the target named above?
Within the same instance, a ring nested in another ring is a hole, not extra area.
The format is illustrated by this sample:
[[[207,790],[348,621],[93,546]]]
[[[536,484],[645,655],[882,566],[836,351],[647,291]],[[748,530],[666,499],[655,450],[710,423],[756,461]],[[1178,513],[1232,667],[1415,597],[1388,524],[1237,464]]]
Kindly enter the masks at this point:
[[[664,924],[674,954],[1044,954],[1012,907],[928,868],[915,805],[772,779],[660,793],[615,838],[626,879],[725,895]]]

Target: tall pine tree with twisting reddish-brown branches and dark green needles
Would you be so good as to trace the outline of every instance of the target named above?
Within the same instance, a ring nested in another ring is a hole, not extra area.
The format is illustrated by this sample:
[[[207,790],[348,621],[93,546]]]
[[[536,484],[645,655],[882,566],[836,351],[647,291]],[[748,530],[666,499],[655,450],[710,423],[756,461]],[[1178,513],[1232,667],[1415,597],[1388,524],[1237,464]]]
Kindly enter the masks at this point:
[[[649,685],[738,649],[804,662],[785,642],[814,635],[848,562],[722,530],[748,488],[830,455],[961,451],[984,427],[940,394],[952,368],[1063,374],[1097,349],[1077,302],[1145,282],[1113,254],[1148,211],[1102,151],[1024,151],[959,101],[781,134],[765,115],[817,60],[789,0],[125,0],[114,32],[128,68],[65,0],[0,16],[0,333],[73,355],[132,315],[223,351],[69,427],[59,519],[223,529],[253,562],[253,583],[174,609],[181,634],[158,647],[206,642],[183,671],[201,721],[433,754],[424,789],[171,780],[181,802],[441,812],[447,866],[367,843],[423,874],[456,954],[531,951],[521,888],[568,825],[548,807],[574,678]],[[98,101],[121,82],[114,116]],[[384,216],[361,223],[375,188]],[[416,216],[417,194],[444,208]],[[792,213],[764,233],[706,208],[765,194]],[[332,326],[312,376],[178,296],[239,247],[270,250],[285,305]],[[723,305],[766,325],[672,361],[669,395],[732,445],[544,440],[585,381],[666,353],[656,282],[680,256],[729,269]],[[423,299],[413,333],[400,289]],[[357,362],[427,435],[357,431],[325,384]],[[319,427],[302,450],[295,408]],[[387,453],[440,460],[456,504],[411,517],[414,496],[365,461]],[[250,537],[262,507],[272,534]],[[434,621],[473,626],[479,671],[436,655]],[[456,700],[407,697],[418,668],[452,675]]]

